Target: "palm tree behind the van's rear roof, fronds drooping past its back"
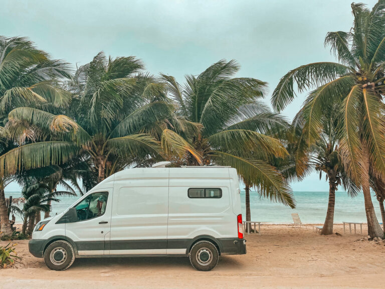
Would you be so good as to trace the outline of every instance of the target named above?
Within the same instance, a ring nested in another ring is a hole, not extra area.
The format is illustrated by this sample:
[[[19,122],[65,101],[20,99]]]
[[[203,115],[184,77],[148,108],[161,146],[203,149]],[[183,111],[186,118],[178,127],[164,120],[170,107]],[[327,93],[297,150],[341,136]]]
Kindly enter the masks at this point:
[[[279,140],[264,134],[283,125],[284,120],[260,101],[266,83],[233,78],[238,70],[234,60],[221,60],[198,76],[187,75],[184,86],[171,76],[162,78],[175,101],[176,113],[202,125],[185,139],[203,164],[236,168],[247,185],[258,188],[263,196],[294,207],[290,187],[270,164],[274,157],[286,158],[287,151]],[[179,164],[200,165],[190,153],[182,156]]]

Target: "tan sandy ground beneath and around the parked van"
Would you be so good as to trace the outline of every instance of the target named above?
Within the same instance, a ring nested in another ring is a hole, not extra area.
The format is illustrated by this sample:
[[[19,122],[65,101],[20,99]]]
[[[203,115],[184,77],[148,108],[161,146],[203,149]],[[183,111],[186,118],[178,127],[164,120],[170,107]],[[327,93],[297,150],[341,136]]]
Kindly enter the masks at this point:
[[[366,227],[362,235],[335,231],[342,236],[262,225],[261,236],[246,235],[246,255],[222,256],[210,272],[180,257],[77,259],[51,271],[18,241],[22,263],[0,269],[0,288],[383,288],[385,242],[356,241]]]

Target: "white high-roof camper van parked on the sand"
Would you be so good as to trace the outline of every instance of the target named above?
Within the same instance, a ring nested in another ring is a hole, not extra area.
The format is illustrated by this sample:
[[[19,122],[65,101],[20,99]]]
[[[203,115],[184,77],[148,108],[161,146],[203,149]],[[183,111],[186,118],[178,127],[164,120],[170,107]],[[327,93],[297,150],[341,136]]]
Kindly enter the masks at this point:
[[[220,255],[246,254],[239,192],[228,167],[124,170],[39,222],[29,250],[53,270],[83,257],[189,256],[209,271]]]

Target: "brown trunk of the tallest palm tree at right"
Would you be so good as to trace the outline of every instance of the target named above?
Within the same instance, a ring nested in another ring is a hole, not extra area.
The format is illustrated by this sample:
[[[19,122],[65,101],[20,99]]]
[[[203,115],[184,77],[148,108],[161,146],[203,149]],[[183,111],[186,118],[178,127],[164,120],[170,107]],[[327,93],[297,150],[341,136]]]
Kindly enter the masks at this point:
[[[373,203],[371,201],[370,187],[369,187],[369,153],[367,151],[366,143],[361,141],[362,146],[362,161],[364,171],[362,174],[362,191],[363,198],[365,201],[365,212],[367,220],[367,234],[374,238],[383,238],[383,231],[378,223],[377,217],[375,216]]]

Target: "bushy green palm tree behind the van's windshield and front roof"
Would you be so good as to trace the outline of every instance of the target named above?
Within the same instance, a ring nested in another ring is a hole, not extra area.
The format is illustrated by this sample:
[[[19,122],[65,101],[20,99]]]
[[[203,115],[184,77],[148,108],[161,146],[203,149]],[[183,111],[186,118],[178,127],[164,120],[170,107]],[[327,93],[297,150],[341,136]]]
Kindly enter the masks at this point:
[[[164,85],[140,73],[142,67],[134,57],[107,59],[99,53],[79,67],[67,84],[73,93],[71,106],[64,110],[69,116],[19,107],[9,113],[10,130],[27,125],[37,131],[30,140],[38,139],[48,147],[67,144],[82,161],[91,160],[98,182],[127,166],[160,159],[163,134],[176,137],[172,145],[180,139],[169,128],[183,132],[195,125],[173,114]],[[185,148],[172,149],[184,152]]]

